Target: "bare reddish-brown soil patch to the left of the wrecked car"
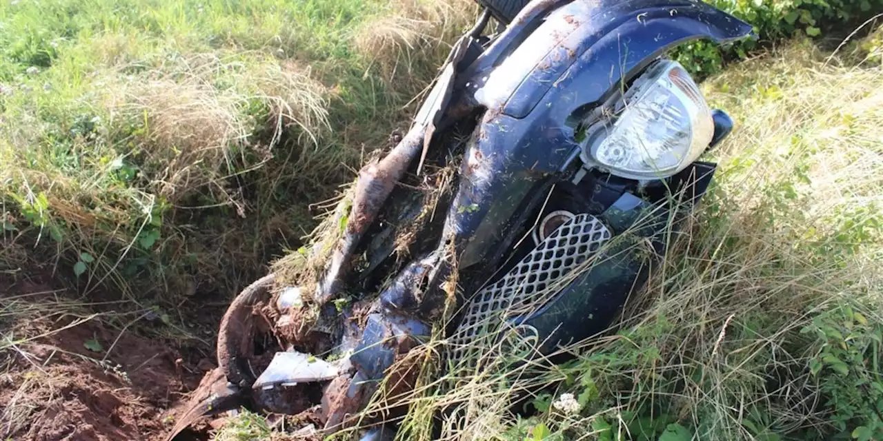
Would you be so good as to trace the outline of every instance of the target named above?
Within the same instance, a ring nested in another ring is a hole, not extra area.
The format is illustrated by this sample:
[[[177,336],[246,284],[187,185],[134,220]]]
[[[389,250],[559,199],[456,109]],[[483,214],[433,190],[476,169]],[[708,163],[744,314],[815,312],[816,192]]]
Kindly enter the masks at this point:
[[[0,274],[0,438],[162,439],[174,425],[170,410],[215,367],[206,348],[121,333],[102,317],[77,325],[83,316],[51,313],[65,295]],[[22,302],[46,313],[23,319],[15,315]],[[184,435],[179,439],[208,438],[204,431]]]

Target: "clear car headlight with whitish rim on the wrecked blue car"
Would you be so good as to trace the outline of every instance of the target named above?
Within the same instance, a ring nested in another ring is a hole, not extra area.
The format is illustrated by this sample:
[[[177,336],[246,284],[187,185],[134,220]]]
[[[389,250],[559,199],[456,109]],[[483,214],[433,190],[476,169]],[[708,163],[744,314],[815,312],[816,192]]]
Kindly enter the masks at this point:
[[[652,64],[621,102],[615,122],[586,138],[586,165],[630,179],[660,179],[696,161],[712,141],[711,109],[681,64]]]

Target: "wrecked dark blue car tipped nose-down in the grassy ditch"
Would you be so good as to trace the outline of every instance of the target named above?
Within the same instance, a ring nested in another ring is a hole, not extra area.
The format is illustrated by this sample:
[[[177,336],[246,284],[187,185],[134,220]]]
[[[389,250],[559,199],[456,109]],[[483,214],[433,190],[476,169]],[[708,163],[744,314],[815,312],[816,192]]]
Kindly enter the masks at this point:
[[[393,367],[431,338],[441,370],[480,369],[503,328],[547,355],[605,331],[644,285],[713,179],[698,158],[733,127],[665,54],[751,26],[695,0],[479,3],[410,130],[294,270],[230,304],[219,367],[170,438],[242,406],[335,433],[383,380],[412,387]]]

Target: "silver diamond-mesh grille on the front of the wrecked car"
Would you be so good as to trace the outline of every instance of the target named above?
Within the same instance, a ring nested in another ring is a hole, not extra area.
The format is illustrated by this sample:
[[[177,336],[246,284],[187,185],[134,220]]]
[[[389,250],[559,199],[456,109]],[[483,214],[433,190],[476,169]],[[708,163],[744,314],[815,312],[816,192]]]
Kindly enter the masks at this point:
[[[468,355],[487,345],[476,340],[494,339],[503,320],[539,310],[547,296],[555,294],[551,292],[555,281],[585,263],[610,237],[610,230],[591,214],[564,221],[502,279],[479,290],[467,303],[465,315],[449,339],[450,361],[455,366],[464,360],[471,367],[477,365],[478,360]]]

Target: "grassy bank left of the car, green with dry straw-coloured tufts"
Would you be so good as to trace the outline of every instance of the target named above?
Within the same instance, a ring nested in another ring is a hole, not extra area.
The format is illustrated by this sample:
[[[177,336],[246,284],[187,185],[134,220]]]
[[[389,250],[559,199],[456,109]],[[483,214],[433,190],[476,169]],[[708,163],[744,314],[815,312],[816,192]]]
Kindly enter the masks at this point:
[[[171,303],[236,292],[297,248],[308,204],[406,126],[443,41],[474,11],[465,0],[4,3],[4,247],[57,263],[79,288],[147,286]]]

